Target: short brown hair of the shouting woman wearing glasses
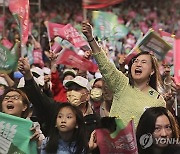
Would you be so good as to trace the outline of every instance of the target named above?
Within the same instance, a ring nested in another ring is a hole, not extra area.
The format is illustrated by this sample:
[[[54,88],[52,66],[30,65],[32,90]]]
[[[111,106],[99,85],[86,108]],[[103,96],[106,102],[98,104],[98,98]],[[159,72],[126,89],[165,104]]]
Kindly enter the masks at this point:
[[[2,95],[2,101],[4,99],[4,97],[6,96],[7,93],[11,92],[11,91],[16,91],[17,93],[19,93],[22,97],[22,102],[23,104],[27,105],[27,109],[25,111],[22,112],[21,118],[27,118],[29,112],[30,112],[30,101],[27,97],[27,95],[20,89],[16,89],[16,88],[8,88],[5,90],[4,94]],[[1,111],[2,111],[2,103],[1,103]]]

